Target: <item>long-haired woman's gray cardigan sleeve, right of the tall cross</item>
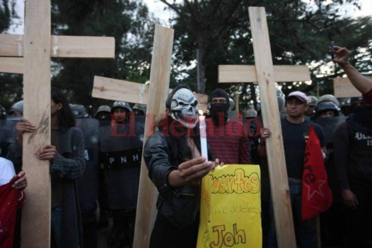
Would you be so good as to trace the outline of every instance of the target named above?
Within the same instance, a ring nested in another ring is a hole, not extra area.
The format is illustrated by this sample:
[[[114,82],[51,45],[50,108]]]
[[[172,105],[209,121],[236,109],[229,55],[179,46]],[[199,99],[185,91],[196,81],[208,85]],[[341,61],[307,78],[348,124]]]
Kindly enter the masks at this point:
[[[84,138],[80,129],[73,129],[71,133],[71,154],[68,158],[58,152],[50,165],[49,172],[56,173],[61,178],[76,179],[85,170]]]

